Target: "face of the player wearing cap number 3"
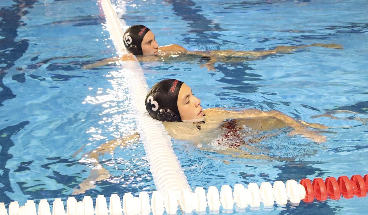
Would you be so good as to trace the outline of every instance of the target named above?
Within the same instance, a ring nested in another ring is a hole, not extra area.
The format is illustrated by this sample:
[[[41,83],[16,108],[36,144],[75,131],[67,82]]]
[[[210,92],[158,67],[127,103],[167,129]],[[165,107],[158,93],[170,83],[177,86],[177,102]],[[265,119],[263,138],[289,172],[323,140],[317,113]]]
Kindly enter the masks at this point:
[[[192,89],[185,83],[181,85],[177,105],[182,120],[199,119],[203,117],[201,100],[193,95]]]

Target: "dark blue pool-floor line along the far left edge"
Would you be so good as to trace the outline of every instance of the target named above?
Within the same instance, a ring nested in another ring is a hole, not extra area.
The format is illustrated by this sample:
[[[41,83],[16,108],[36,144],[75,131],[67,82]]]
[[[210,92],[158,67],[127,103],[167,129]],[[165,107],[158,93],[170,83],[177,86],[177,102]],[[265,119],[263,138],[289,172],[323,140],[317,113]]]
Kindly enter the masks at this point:
[[[36,0],[18,0],[14,1],[15,4],[10,7],[0,8],[0,17],[2,18],[0,22],[0,36],[4,37],[0,39],[0,50],[2,50],[0,52],[0,64],[3,65],[0,67],[0,87],[2,88],[2,91],[0,91],[0,107],[3,106],[2,103],[5,100],[15,98],[16,96],[9,87],[4,85],[3,79],[7,74],[6,71],[12,68],[15,65],[14,62],[21,58],[28,49],[28,40],[22,39],[17,41],[17,31],[20,26],[26,25],[21,21],[22,16],[28,14],[25,8],[32,7],[36,2]],[[22,77],[24,77],[24,74],[16,74],[13,76],[13,80],[22,82]],[[3,170],[2,174],[0,174],[0,182],[3,184],[0,187],[0,202],[8,203],[12,201],[4,192],[14,192],[10,185],[10,170],[5,167],[7,161],[13,158],[13,155],[8,153],[9,149],[14,146],[14,142],[10,137],[24,129],[28,124],[28,121],[23,121],[17,125],[8,126],[0,130],[0,170]]]

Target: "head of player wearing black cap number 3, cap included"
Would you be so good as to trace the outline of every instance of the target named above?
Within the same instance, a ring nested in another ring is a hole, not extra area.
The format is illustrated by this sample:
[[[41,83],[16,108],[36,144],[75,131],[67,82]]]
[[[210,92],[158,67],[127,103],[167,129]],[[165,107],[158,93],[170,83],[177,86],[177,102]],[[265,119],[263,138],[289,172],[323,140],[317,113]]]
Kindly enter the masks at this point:
[[[153,85],[145,104],[149,115],[160,121],[203,121],[201,100],[180,80],[166,79]]]

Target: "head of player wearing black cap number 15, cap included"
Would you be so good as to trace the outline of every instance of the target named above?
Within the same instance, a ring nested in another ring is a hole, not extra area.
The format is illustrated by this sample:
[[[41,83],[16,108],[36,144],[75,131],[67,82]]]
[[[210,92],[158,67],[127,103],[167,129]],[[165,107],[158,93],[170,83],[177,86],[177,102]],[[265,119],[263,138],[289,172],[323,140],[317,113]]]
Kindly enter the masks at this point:
[[[155,35],[144,25],[133,25],[124,33],[124,45],[134,55],[153,55],[158,53]]]

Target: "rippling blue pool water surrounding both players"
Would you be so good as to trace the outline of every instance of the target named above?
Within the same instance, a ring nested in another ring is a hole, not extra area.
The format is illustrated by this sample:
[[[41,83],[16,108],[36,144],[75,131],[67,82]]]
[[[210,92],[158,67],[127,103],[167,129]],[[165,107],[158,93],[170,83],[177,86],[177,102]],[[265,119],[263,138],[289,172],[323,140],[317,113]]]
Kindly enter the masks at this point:
[[[180,79],[204,108],[273,109],[307,122],[350,126],[329,129],[322,144],[281,132],[254,145],[259,149],[254,153],[289,161],[233,158],[173,140],[192,188],[368,173],[367,1],[115,3],[125,10],[121,19],[148,26],[160,45],[176,43],[189,50],[269,50],[312,43],[344,47],[308,47],[217,63],[216,71],[209,72],[196,59],[142,62],[149,86],[164,78]],[[0,202],[65,200],[92,169],[84,153],[135,131],[127,80],[117,77],[114,65],[81,69],[116,56],[96,1],[3,0],[0,7]],[[335,114],[346,119],[311,118],[330,110],[357,113]],[[78,200],[155,190],[140,142],[100,161],[112,177],[77,195]],[[367,203],[368,197],[328,199],[268,212],[363,214]]]

